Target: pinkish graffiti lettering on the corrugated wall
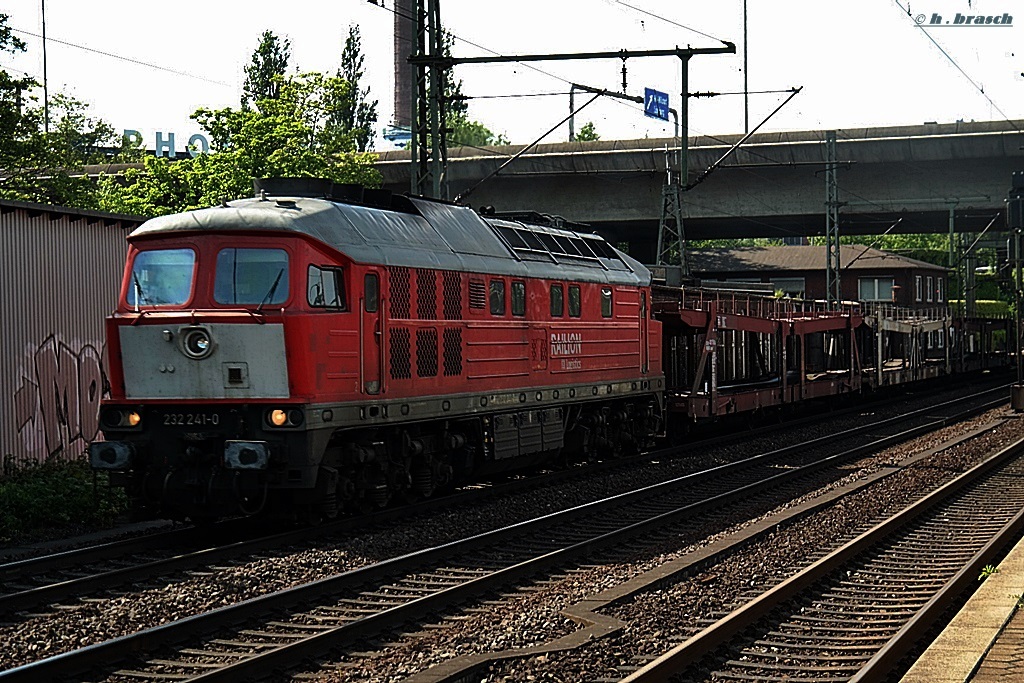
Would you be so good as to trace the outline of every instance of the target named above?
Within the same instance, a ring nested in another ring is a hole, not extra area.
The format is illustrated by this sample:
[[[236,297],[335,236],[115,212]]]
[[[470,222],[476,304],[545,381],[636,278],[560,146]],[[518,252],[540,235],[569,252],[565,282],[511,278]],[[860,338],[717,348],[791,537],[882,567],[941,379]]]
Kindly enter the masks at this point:
[[[50,335],[31,353],[14,390],[15,461],[77,458],[99,437],[99,399],[110,392],[102,351],[101,343],[72,346]]]

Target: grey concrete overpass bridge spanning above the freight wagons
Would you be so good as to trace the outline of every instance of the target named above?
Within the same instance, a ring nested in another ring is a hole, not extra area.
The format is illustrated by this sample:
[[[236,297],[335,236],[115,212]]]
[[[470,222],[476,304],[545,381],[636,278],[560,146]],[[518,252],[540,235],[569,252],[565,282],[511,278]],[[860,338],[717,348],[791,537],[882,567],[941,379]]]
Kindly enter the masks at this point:
[[[1024,121],[924,124],[840,130],[837,160],[841,234],[976,232],[1004,211],[1013,171],[1024,170]],[[739,138],[690,138],[690,178]],[[824,131],[753,136],[683,194],[691,240],[823,234]],[[653,258],[672,139],[538,145],[467,201],[498,211],[534,210],[592,224]],[[449,153],[453,196],[473,186],[521,146]],[[384,186],[409,190],[409,153],[380,155]],[[951,217],[951,218],[950,218]],[[993,228],[1005,225],[1000,215]]]

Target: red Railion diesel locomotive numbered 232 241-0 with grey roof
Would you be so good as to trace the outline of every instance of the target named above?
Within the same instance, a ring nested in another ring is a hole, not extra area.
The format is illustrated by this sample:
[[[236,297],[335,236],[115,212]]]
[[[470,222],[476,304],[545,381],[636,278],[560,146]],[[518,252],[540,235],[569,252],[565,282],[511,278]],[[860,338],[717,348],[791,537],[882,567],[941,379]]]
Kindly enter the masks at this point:
[[[331,517],[647,444],[650,272],[538,218],[282,180],[147,221],[92,466],[139,516]]]

